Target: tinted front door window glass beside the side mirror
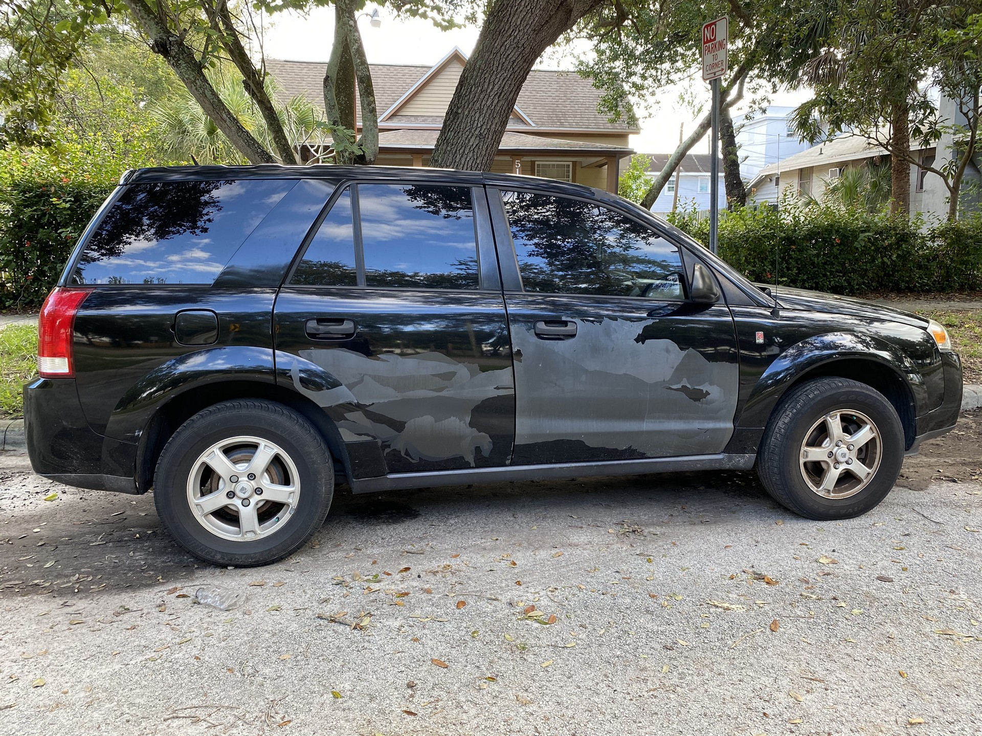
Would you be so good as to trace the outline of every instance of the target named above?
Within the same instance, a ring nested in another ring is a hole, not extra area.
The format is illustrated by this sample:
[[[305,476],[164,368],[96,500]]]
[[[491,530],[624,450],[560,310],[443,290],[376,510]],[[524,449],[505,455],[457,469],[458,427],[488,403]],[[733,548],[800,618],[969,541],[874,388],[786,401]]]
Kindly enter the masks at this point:
[[[526,291],[683,298],[679,249],[649,228],[577,199],[504,199]]]

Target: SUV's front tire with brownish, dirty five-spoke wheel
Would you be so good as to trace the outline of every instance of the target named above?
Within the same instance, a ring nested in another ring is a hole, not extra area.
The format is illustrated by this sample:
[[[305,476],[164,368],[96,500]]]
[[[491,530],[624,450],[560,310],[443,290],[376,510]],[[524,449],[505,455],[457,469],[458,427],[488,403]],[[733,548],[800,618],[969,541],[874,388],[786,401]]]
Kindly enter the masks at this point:
[[[820,378],[794,387],[774,410],[757,474],[774,499],[801,516],[848,519],[890,493],[903,449],[900,417],[883,394],[855,381]]]

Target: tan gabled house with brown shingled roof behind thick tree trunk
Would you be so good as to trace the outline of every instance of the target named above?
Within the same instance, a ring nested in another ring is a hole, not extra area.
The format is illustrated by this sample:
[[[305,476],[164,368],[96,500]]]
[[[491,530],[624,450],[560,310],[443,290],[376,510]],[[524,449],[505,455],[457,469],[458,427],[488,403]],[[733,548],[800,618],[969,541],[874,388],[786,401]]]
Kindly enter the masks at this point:
[[[454,48],[432,67],[371,64],[384,166],[428,166],[467,57]],[[284,101],[303,95],[322,104],[326,64],[268,59]],[[638,132],[597,112],[602,92],[573,72],[533,70],[518,93],[491,171],[524,174],[617,191],[622,162]],[[360,104],[355,108],[360,130]]]

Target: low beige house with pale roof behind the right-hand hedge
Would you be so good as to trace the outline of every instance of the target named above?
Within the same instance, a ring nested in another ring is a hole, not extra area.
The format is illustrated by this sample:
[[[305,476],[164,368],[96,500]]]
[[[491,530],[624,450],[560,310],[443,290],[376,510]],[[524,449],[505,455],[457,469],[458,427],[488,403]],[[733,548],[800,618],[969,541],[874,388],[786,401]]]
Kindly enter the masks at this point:
[[[917,149],[912,153],[929,166],[934,163],[934,147]],[[789,193],[797,196],[810,194],[821,199],[825,188],[842,176],[846,168],[886,163],[889,160],[890,154],[886,149],[871,144],[865,137],[840,135],[765,166],[750,182],[749,199],[757,204],[776,204]],[[934,213],[936,207],[925,202],[925,193],[932,192],[935,187],[947,192],[936,174],[911,164],[910,211]]]

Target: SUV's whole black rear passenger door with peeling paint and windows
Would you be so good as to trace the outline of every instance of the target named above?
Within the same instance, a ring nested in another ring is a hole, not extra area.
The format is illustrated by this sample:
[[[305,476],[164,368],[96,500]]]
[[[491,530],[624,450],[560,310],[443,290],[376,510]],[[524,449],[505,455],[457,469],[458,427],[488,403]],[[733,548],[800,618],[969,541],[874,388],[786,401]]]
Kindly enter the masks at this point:
[[[509,462],[515,384],[482,187],[339,186],[274,319],[278,376],[324,407],[356,478]]]

